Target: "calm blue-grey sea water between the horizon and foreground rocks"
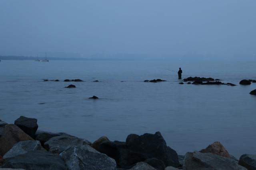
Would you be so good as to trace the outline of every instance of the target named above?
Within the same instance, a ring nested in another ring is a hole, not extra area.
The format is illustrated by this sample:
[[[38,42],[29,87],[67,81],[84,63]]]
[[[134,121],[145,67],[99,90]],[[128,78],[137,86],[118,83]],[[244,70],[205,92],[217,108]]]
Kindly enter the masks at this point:
[[[178,84],[205,76],[238,86]],[[0,119],[38,119],[40,130],[66,132],[94,141],[106,135],[125,141],[130,133],[160,131],[178,154],[220,141],[236,157],[256,152],[256,61],[1,61]],[[43,78],[72,82],[43,82]],[[161,78],[168,82],[145,83]],[[92,82],[100,80],[101,82]],[[124,81],[124,82],[121,82]],[[88,97],[98,96],[99,100]],[[45,103],[45,104],[40,104]]]

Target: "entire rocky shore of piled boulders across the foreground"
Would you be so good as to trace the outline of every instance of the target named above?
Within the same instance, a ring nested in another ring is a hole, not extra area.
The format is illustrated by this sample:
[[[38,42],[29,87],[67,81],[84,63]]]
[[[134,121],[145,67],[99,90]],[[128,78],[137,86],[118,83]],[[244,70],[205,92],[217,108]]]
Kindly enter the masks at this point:
[[[239,160],[220,142],[184,156],[160,132],[130,134],[125,142],[100,137],[91,143],[66,134],[38,131],[37,119],[0,120],[0,168],[26,170],[255,170],[256,155]]]

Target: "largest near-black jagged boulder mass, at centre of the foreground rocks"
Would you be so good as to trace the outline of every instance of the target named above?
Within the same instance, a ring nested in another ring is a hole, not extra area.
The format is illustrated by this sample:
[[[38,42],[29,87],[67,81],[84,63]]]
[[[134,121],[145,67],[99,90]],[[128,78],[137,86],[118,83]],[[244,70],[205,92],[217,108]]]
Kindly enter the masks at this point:
[[[114,158],[118,167],[128,167],[148,158],[162,160],[165,166],[178,167],[178,154],[167,147],[160,132],[155,134],[128,135],[126,142],[104,141],[100,144],[100,152]]]

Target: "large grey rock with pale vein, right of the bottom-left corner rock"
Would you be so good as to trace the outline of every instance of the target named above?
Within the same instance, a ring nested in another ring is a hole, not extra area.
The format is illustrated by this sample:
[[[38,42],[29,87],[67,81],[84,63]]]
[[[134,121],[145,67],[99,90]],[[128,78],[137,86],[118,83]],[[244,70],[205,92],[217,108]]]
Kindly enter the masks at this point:
[[[89,145],[73,146],[60,153],[70,170],[115,170],[116,161]]]

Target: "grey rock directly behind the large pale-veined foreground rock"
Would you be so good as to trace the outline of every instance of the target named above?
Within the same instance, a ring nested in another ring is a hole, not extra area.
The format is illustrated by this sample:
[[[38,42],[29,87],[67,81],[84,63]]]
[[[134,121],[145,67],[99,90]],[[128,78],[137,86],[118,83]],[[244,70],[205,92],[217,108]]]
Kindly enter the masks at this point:
[[[60,136],[52,137],[46,143],[44,143],[44,147],[49,152],[54,154],[60,154],[62,151],[73,147],[73,146],[82,146],[82,145],[90,145],[89,141],[84,139],[80,139],[78,137],[74,137],[68,134],[63,134]]]

